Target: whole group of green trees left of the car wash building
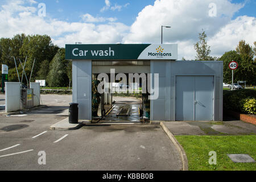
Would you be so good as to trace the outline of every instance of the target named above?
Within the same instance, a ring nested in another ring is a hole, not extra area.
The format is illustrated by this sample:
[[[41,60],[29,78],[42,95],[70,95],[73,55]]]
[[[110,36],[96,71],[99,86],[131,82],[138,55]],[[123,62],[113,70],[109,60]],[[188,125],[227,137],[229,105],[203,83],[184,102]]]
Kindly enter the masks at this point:
[[[24,71],[29,77],[35,59],[31,82],[46,80],[47,86],[55,87],[72,84],[72,63],[65,60],[65,48],[54,45],[48,35],[17,34],[13,38],[0,39],[0,64],[9,67],[8,81],[18,82],[14,58],[20,78],[25,60]],[[2,74],[2,69],[0,72]],[[22,84],[27,85],[24,77]]]

